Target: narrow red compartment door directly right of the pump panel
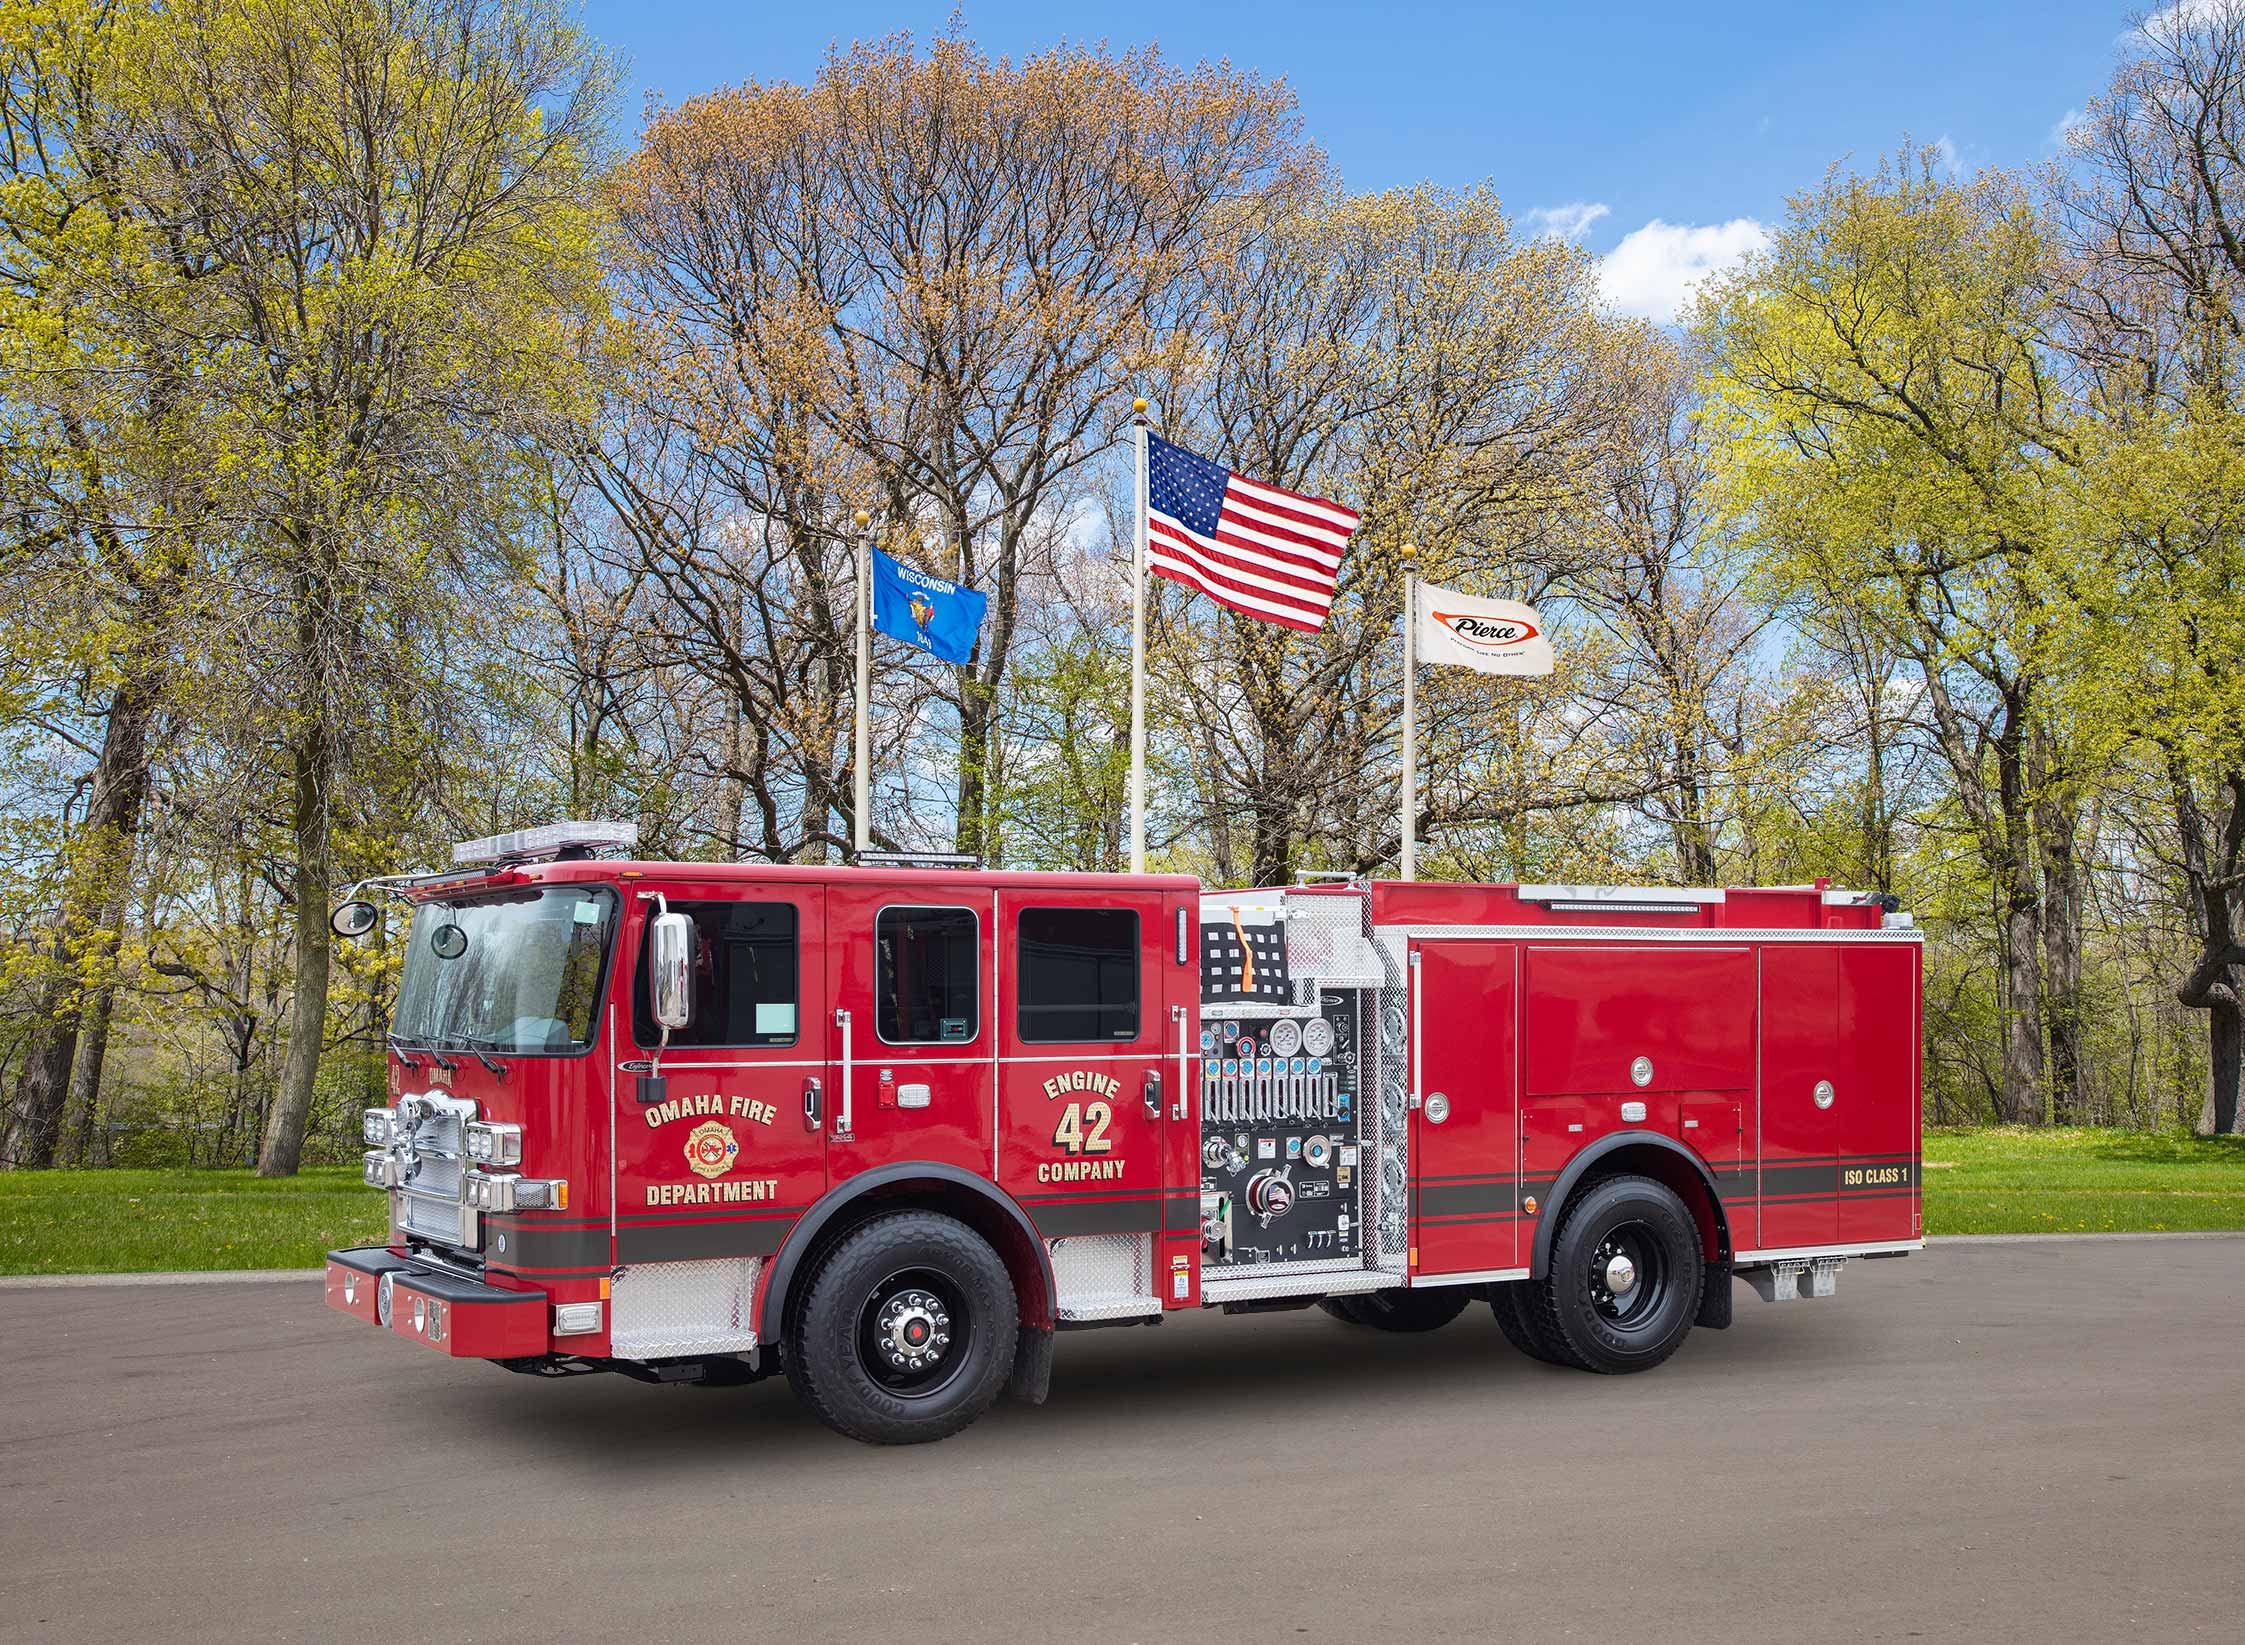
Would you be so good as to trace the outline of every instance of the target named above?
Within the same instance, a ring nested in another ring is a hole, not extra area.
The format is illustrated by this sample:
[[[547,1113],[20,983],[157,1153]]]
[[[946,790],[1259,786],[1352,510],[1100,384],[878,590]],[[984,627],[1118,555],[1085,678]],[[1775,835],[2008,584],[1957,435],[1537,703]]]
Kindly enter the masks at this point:
[[[1412,1275],[1518,1268],[1520,947],[1412,943]]]

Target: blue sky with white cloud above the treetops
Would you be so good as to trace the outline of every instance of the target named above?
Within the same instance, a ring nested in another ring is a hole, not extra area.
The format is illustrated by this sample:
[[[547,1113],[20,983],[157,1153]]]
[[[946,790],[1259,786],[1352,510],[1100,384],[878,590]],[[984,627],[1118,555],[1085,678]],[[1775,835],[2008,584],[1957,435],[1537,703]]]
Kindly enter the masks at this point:
[[[586,25],[644,92],[808,79],[835,40],[941,34],[934,4],[588,0]],[[1610,256],[1619,307],[1664,319],[1684,281],[1749,247],[1827,164],[1904,135],[1964,168],[2056,153],[2110,74],[2124,4],[1021,4],[959,7],[983,47],[1138,45],[1282,74],[1356,189],[1493,180],[1515,213]],[[1661,224],[1661,227],[1650,227]],[[1634,236],[1634,238],[1632,238]]]

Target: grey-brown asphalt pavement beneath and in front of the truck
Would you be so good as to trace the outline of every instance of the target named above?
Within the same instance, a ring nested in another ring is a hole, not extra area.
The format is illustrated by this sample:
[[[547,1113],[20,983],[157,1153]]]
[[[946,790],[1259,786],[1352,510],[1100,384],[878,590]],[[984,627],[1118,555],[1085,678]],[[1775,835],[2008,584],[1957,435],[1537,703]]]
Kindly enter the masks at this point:
[[[1740,1286],[1634,1378],[1482,1306],[1066,1333],[909,1450],[310,1281],[0,1290],[0,1641],[2234,1641],[2241,1414],[2245,1239]]]

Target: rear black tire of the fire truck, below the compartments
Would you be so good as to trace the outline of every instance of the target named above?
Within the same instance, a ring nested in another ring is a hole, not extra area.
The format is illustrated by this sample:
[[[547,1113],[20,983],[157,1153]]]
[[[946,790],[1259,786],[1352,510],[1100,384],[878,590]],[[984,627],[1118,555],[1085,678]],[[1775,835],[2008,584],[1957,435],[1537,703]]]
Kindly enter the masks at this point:
[[[1628,1290],[1610,1288],[1630,1259]],[[1551,1268],[1529,1295],[1531,1324],[1587,1371],[1650,1371],[1690,1335],[1706,1284],[1699,1225],[1670,1189],[1610,1176],[1580,1189],[1551,1237]]]

